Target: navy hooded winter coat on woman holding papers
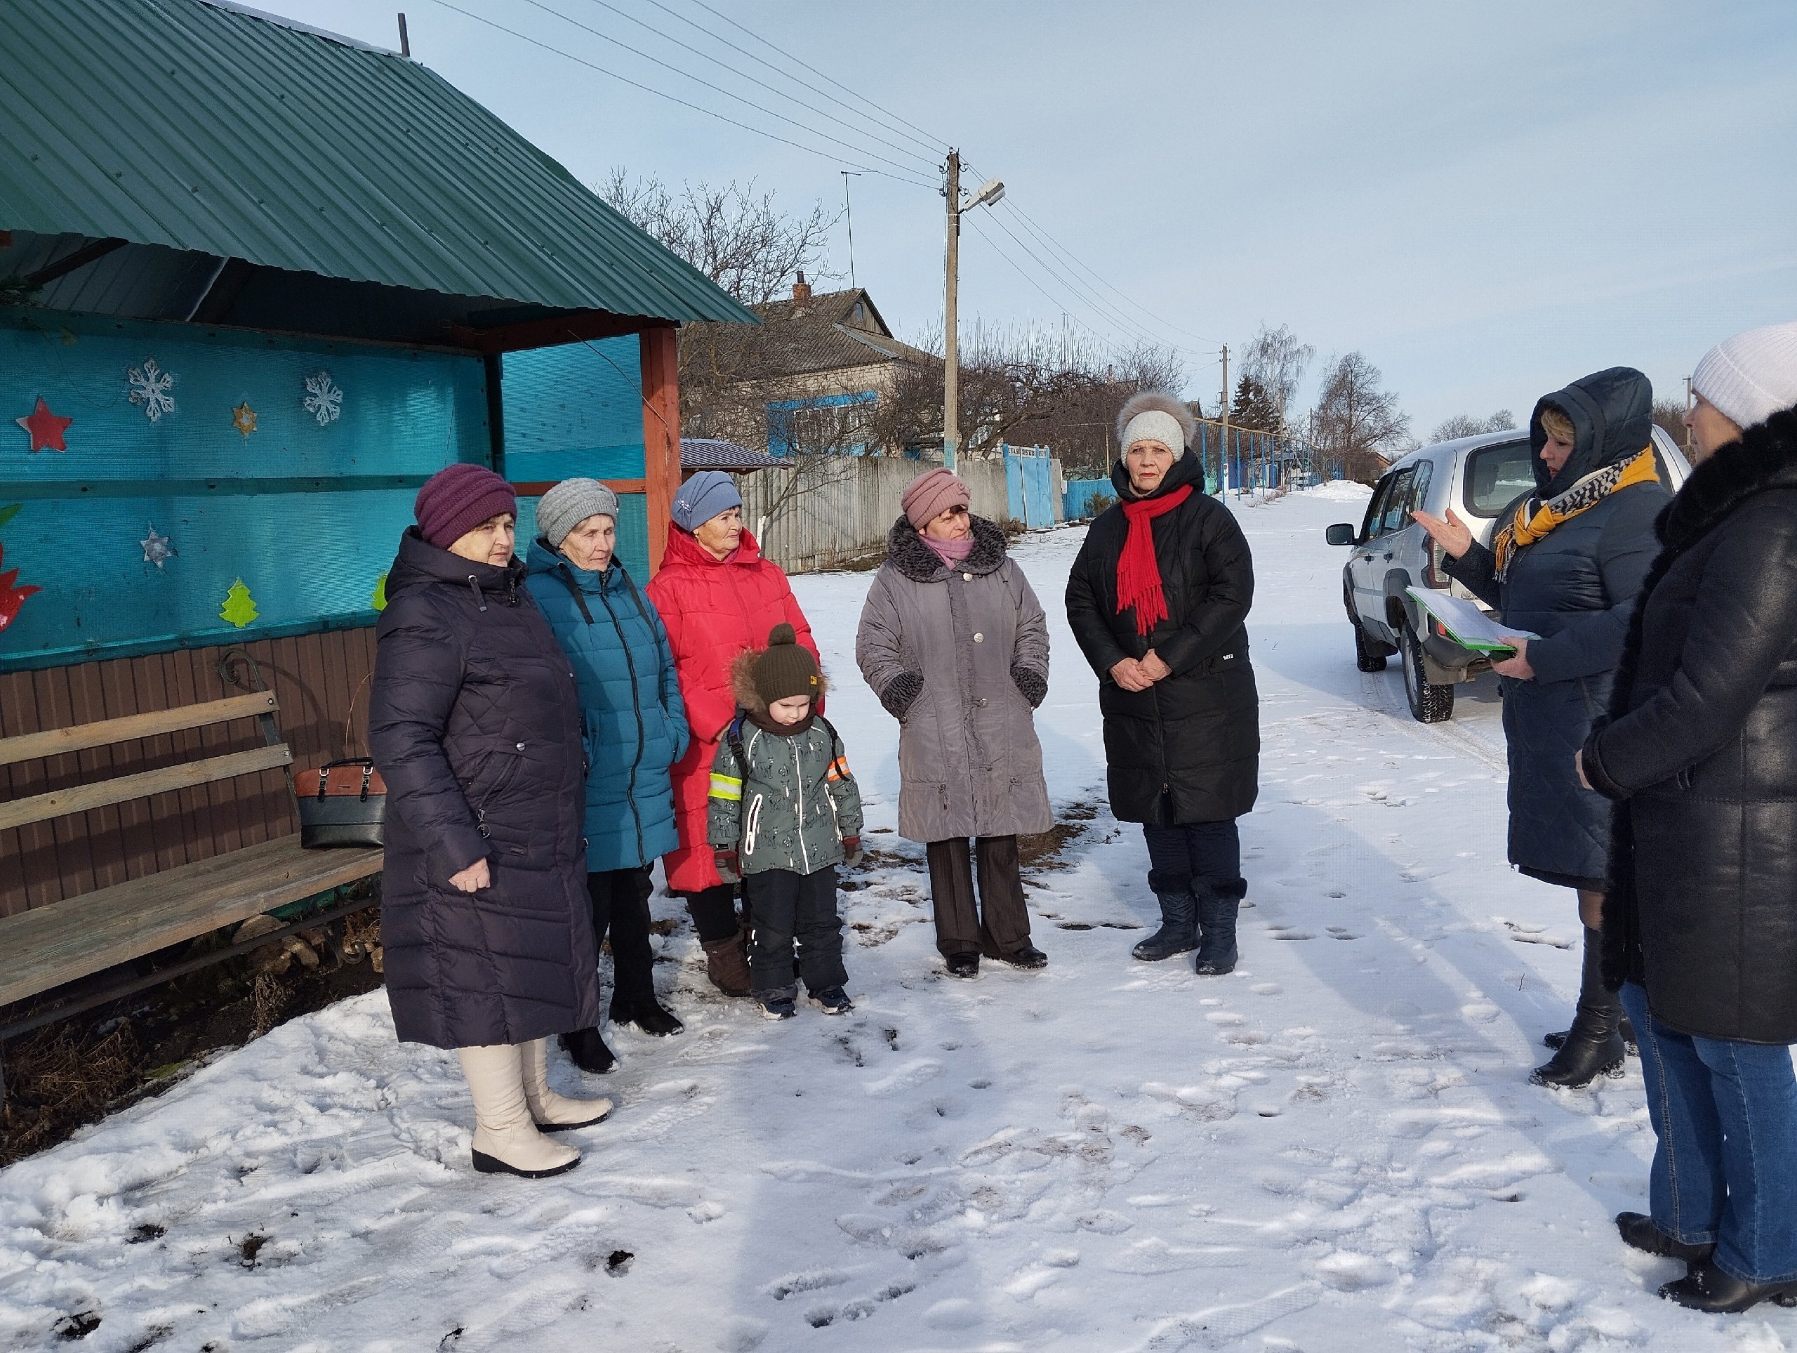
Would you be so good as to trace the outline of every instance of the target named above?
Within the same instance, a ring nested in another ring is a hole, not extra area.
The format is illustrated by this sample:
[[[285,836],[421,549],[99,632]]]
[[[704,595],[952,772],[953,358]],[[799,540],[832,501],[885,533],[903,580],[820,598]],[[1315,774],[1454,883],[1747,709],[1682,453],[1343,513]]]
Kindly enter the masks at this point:
[[[1542,410],[1560,408],[1576,431],[1572,455],[1549,476],[1540,449]],[[1529,420],[1536,492],[1565,492],[1585,474],[1637,455],[1653,428],[1653,388],[1619,367],[1544,397]],[[1497,607],[1504,625],[1529,641],[1533,681],[1500,677],[1504,744],[1509,753],[1509,862],[1569,888],[1599,888],[1610,852],[1610,805],[1578,782],[1572,755],[1610,699],[1610,674],[1623,654],[1628,615],[1659,550],[1653,517],[1666,489],[1619,489],[1515,552],[1497,580],[1488,548],[1448,561],[1450,577]],[[1511,521],[1517,503],[1499,514]]]

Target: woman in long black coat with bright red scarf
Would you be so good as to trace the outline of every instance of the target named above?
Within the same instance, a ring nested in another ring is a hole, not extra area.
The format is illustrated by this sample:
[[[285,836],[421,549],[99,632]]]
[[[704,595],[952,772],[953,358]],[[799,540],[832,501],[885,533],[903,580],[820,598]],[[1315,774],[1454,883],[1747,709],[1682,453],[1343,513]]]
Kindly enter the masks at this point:
[[[1236,965],[1247,893],[1236,818],[1260,789],[1260,695],[1247,659],[1254,559],[1235,516],[1204,492],[1197,422],[1141,392],[1118,415],[1118,507],[1085,532],[1067,622],[1098,674],[1111,810],[1141,823],[1161,929],[1132,951],[1197,949],[1197,972]]]

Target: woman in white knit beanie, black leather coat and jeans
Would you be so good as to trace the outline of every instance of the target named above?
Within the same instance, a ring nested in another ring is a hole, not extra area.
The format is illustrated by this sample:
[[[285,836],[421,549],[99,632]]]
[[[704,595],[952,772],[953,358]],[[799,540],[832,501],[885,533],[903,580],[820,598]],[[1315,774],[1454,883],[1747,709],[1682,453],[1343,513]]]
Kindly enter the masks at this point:
[[[1691,385],[1696,467],[1578,767],[1616,801],[1603,974],[1657,1137],[1617,1229],[1689,1265],[1662,1297],[1741,1312],[1797,1296],[1797,323]]]

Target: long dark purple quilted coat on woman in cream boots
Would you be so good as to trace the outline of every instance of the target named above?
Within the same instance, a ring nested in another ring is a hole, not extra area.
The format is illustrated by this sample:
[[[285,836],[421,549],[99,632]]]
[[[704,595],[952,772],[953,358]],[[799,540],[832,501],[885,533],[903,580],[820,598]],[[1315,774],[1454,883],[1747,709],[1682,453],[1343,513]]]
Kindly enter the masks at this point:
[[[386,780],[381,943],[401,1040],[516,1044],[598,1024],[586,756],[568,658],[523,586],[401,537],[368,747]],[[485,857],[492,886],[449,884]]]

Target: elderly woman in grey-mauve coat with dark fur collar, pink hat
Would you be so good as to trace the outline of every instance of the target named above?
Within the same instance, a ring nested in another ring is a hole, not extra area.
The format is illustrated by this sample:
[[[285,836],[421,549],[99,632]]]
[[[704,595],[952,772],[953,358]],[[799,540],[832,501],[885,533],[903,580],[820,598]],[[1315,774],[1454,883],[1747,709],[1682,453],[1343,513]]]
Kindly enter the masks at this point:
[[[956,977],[976,976],[981,954],[1048,963],[1030,943],[1017,837],[1055,821],[1033,719],[1048,622],[1005,532],[969,503],[947,469],[906,489],[855,634],[861,674],[900,722],[898,832],[927,846],[936,949]]]

